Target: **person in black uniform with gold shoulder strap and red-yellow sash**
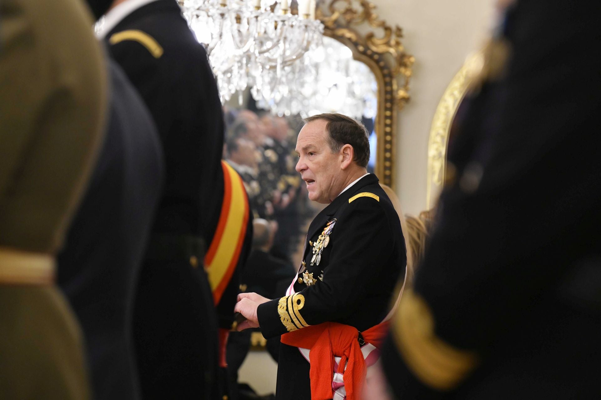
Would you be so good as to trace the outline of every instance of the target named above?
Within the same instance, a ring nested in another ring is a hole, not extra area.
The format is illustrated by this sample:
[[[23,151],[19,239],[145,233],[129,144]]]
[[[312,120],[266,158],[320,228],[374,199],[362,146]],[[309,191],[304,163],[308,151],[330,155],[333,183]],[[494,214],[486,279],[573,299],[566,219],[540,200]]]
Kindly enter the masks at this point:
[[[225,368],[252,225],[242,179],[221,161],[224,121],[207,53],[174,0],[115,0],[98,26],[144,98],[165,157],[135,300],[142,395],[221,398],[218,362]]]

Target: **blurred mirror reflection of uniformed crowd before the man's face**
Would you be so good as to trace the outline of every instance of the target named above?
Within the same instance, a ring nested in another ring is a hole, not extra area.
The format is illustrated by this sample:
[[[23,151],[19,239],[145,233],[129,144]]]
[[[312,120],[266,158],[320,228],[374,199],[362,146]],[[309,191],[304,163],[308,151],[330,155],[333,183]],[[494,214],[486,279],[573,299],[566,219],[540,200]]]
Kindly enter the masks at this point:
[[[275,227],[270,253],[292,263],[304,234],[302,227],[315,213],[294,170],[302,119],[227,106],[224,115],[224,159],[242,177],[254,218],[266,219]]]

